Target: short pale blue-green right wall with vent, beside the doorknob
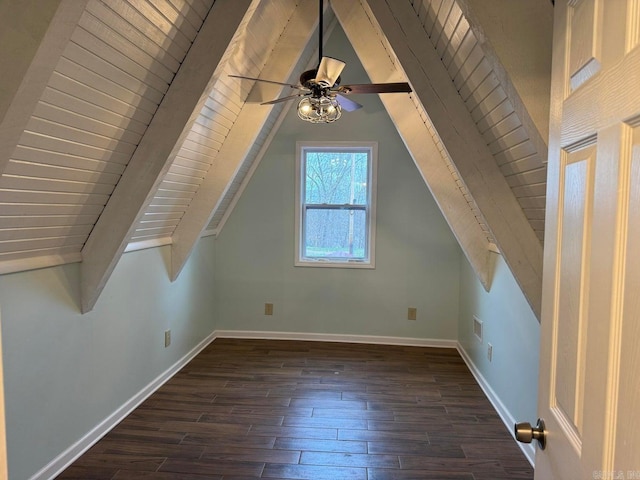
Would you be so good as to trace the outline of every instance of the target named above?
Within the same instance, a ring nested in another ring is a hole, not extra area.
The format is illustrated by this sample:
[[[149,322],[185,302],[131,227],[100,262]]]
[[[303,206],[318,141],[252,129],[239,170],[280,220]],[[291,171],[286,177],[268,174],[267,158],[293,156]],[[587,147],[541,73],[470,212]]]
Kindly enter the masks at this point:
[[[468,262],[461,263],[458,338],[475,368],[500,398],[512,421],[537,418],[540,324],[502,256],[495,255],[491,291],[484,290]],[[483,322],[483,341],[472,319]],[[493,345],[493,360],[487,344]]]

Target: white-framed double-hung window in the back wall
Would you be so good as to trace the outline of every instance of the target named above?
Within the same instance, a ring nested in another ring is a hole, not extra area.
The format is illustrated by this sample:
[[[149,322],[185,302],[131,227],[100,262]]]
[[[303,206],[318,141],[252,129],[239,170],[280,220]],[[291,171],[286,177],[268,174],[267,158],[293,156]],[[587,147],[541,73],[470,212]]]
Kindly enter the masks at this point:
[[[374,267],[377,149],[298,142],[297,266]]]

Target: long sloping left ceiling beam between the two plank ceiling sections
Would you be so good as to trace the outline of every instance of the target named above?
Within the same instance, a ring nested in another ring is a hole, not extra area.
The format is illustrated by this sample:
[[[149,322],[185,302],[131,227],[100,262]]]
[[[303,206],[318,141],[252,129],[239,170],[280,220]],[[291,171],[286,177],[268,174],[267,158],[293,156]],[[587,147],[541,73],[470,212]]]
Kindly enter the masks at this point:
[[[217,0],[83,250],[81,309],[93,309],[208,97],[216,69],[257,0]]]

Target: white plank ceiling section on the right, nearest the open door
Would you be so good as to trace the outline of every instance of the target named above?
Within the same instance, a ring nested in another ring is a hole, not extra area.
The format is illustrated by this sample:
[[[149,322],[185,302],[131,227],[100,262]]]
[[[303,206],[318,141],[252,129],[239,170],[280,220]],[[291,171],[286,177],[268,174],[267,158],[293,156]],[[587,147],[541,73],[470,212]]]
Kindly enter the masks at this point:
[[[466,0],[457,0],[453,5],[432,0],[411,3],[496,162],[510,165],[526,157],[529,163],[535,163],[535,168],[545,168],[544,138],[488,43],[473,8]],[[421,16],[421,10],[430,13]],[[433,25],[428,23],[431,18]],[[526,176],[517,182],[528,185]],[[519,200],[519,191],[513,193]],[[544,227],[527,219],[535,233],[542,236]]]

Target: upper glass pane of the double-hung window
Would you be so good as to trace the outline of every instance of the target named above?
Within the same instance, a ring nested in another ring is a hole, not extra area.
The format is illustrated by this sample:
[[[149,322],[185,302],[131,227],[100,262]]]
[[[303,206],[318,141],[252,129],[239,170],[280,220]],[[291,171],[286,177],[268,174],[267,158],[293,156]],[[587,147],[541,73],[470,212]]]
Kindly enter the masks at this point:
[[[367,203],[366,152],[305,152],[305,202],[311,204]]]

